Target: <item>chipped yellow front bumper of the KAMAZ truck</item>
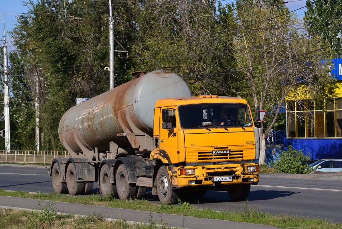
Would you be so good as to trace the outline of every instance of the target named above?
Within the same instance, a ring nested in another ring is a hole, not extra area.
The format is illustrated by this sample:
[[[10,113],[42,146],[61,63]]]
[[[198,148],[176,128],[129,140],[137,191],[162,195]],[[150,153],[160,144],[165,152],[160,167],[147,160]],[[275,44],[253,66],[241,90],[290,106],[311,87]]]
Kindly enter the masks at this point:
[[[246,164],[227,164],[227,165],[203,165],[203,166],[182,166],[173,171],[173,185],[178,188],[186,187],[207,187],[218,185],[237,185],[251,184],[256,185],[259,182],[259,169],[256,172],[247,172],[247,167],[258,166],[256,163]],[[195,169],[195,175],[181,175],[181,169]],[[232,181],[214,181],[214,177],[231,176]],[[248,181],[248,178],[254,178],[254,181]],[[174,182],[176,181],[176,182]],[[195,181],[195,184],[189,185],[189,181]]]

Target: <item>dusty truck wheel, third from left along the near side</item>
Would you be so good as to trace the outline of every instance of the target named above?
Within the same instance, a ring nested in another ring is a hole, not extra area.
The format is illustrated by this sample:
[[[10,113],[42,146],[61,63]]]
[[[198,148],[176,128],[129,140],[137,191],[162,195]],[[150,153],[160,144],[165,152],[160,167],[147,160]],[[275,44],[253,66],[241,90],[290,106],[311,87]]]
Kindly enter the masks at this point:
[[[115,185],[110,181],[110,171],[107,165],[101,167],[100,178],[98,179],[98,189],[101,191],[103,196],[117,197],[118,192],[116,191]]]

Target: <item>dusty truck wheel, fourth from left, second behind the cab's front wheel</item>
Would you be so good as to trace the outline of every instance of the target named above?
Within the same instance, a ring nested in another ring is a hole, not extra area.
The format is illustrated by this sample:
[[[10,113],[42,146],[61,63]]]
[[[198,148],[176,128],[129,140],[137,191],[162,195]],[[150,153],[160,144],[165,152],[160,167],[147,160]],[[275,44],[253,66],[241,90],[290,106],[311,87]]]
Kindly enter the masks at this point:
[[[136,187],[128,183],[126,167],[123,164],[120,165],[116,171],[115,181],[116,190],[121,200],[126,200],[135,196]]]

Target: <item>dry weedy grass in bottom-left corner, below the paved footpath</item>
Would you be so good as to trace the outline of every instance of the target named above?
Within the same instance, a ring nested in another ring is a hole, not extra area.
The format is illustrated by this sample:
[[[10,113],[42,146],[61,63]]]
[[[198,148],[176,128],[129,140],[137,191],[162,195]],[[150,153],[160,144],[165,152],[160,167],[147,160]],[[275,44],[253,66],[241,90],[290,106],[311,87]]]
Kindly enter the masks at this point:
[[[19,211],[11,207],[0,208],[0,228],[14,229],[177,229],[165,220],[158,221],[152,215],[147,223],[128,222],[125,219],[106,220],[103,212],[87,216],[58,214],[55,203],[38,211]]]

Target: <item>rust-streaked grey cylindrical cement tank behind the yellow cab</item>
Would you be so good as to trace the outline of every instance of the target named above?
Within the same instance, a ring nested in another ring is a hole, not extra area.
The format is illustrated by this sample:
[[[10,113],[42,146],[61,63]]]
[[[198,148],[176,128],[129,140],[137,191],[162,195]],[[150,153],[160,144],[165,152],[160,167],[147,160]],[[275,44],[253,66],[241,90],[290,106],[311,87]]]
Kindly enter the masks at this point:
[[[58,127],[61,143],[73,157],[95,147],[99,152],[109,151],[111,141],[119,147],[144,150],[134,136],[152,139],[157,100],[185,96],[191,96],[190,89],[179,75],[165,70],[149,72],[71,107]]]

